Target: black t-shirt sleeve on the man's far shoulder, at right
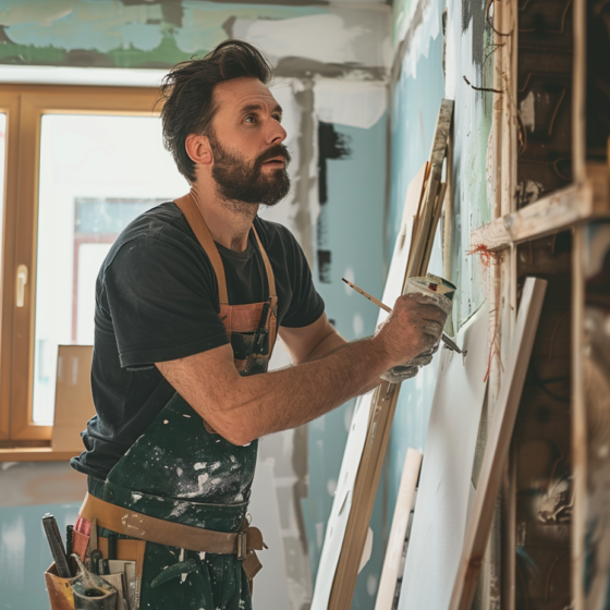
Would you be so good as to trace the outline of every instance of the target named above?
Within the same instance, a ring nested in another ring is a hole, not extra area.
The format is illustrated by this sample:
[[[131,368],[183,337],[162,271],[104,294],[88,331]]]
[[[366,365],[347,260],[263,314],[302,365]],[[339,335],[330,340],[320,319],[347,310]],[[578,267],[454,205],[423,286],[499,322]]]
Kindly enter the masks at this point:
[[[303,249],[292,233],[286,230],[286,234],[289,235],[286,251],[289,260],[292,263],[290,276],[292,298],[288,312],[281,320],[281,326],[302,328],[314,324],[324,314],[325,303],[314,285],[312,271]]]

